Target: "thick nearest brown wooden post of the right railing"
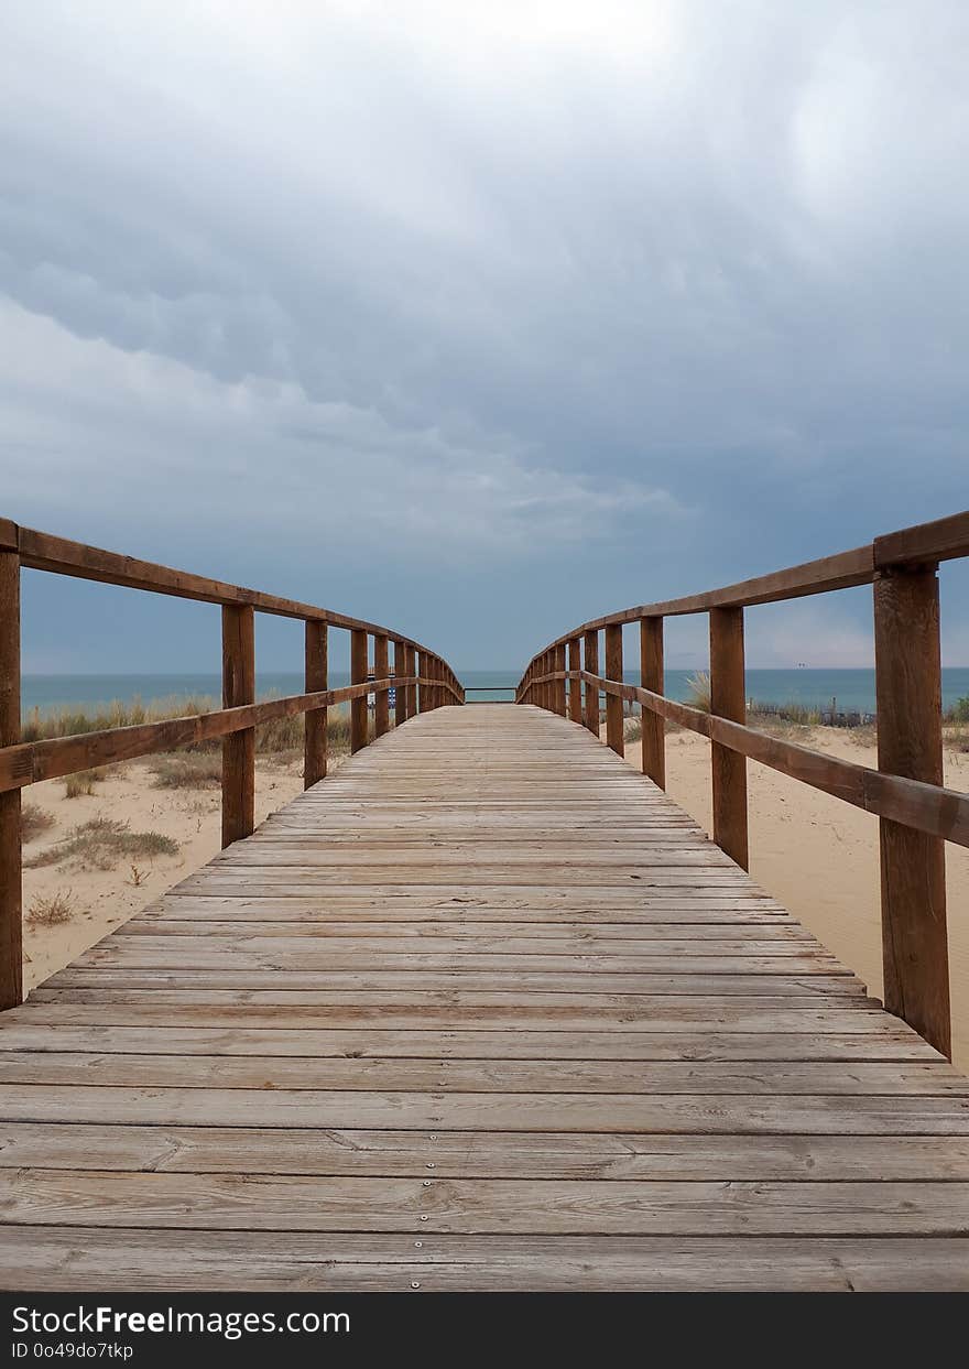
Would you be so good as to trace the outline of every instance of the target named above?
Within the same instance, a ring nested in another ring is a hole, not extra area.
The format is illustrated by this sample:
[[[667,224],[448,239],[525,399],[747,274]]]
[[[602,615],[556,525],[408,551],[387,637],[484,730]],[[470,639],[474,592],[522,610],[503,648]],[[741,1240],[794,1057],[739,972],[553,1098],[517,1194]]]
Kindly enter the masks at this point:
[[[935,565],[875,578],[879,769],[943,783]],[[946,853],[938,836],[879,819],[886,1008],[951,1055]]]

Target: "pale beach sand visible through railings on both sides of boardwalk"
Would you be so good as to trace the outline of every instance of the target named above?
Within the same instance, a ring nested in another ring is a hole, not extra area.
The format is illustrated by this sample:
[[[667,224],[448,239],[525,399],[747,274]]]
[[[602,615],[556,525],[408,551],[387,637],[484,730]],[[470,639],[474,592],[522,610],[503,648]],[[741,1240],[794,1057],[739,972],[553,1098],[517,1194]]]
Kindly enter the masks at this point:
[[[866,734],[817,727],[798,730],[797,741],[862,765],[876,761]],[[638,742],[627,742],[625,757],[641,767]],[[946,763],[947,783],[969,789],[969,754],[950,752]],[[667,765],[669,795],[709,831],[709,743],[693,732],[669,734]],[[300,768],[300,757],[259,757],[257,821],[301,793]],[[751,875],[880,997],[877,819],[762,765],[750,763],[747,773]],[[68,799],[63,780],[26,793],[56,826],[25,845],[25,860],[99,815],[179,843],[178,856],[122,860],[114,869],[83,860],[25,869],[27,987],[67,965],[219,852],[219,789],[167,790],[155,787],[152,779],[148,763],[131,763],[99,782],[93,795]],[[969,1068],[969,850],[947,847],[947,875],[954,1050],[957,1064]],[[38,925],[31,909],[56,894],[70,897],[68,920]]]

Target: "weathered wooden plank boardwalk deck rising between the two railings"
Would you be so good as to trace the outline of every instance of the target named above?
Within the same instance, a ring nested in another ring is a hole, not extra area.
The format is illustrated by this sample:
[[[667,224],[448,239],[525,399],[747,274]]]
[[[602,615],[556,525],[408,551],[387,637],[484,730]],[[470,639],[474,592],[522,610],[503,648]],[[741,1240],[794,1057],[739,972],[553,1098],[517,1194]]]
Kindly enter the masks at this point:
[[[969,1288],[969,1082],[531,706],[412,719],[3,1014],[0,1116],[5,1288]]]

